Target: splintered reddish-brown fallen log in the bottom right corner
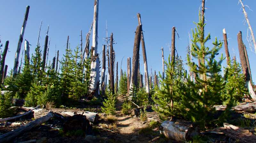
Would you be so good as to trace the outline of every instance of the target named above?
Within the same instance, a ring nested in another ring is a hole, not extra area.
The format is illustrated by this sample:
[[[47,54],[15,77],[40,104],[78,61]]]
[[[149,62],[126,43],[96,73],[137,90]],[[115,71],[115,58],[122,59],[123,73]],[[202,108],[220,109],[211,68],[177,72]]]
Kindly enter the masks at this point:
[[[245,130],[242,127],[238,127],[235,125],[231,125],[228,123],[223,124],[224,127],[217,128],[213,131],[224,132],[230,138],[236,140],[241,143],[255,143],[256,135],[249,132],[249,130]]]

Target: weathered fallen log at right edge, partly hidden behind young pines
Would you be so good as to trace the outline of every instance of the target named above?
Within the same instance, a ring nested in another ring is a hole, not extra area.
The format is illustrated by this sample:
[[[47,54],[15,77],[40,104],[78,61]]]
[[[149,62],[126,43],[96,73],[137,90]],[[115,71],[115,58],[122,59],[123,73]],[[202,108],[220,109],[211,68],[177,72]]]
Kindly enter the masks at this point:
[[[214,107],[216,110],[224,111],[227,106],[215,105]],[[239,105],[232,107],[232,110],[236,112],[241,112],[241,111],[250,112],[250,113],[256,112],[256,101],[251,103],[249,102],[241,103]]]

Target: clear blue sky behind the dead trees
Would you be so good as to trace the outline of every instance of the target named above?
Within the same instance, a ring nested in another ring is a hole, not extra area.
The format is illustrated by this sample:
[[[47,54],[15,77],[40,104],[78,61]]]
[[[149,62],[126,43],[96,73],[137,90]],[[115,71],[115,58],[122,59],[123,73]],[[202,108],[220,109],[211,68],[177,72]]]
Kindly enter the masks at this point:
[[[70,37],[71,48],[80,44],[80,30],[83,30],[83,43],[85,35],[93,19],[93,3],[94,0],[86,1],[68,1],[68,0],[0,0],[0,35],[3,45],[9,40],[9,51],[5,63],[8,69],[13,68],[13,60],[17,43],[20,35],[21,25],[26,10],[26,5],[30,6],[28,22],[25,30],[24,39],[27,39],[30,46],[30,54],[35,50],[39,25],[43,20],[41,30],[40,45],[44,45],[44,37],[46,35],[47,25],[50,25],[49,37],[51,38],[49,58],[55,54],[55,44],[60,54],[64,54],[66,48],[67,36]],[[244,4],[256,11],[256,1],[244,0]],[[114,45],[116,51],[116,61],[120,63],[124,56],[122,68],[126,71],[127,57],[132,57],[134,31],[138,25],[136,13],[141,14],[144,37],[146,42],[146,51],[148,58],[149,72],[152,67],[153,71],[161,71],[161,51],[164,47],[165,59],[168,58],[169,48],[167,43],[171,43],[172,26],[176,26],[180,38],[176,39],[176,49],[182,59],[186,60],[186,47],[188,45],[188,32],[191,34],[191,28],[195,25],[193,21],[198,21],[198,10],[201,0],[185,0],[185,1],[153,1],[153,0],[100,0],[99,2],[99,35],[98,35],[98,51],[102,50],[104,44],[103,38],[106,36],[106,20],[108,21],[108,33],[114,34]],[[230,55],[236,54],[239,60],[237,48],[237,36],[239,31],[243,32],[243,40],[248,47],[249,60],[252,70],[252,78],[256,80],[256,54],[249,49],[246,41],[247,24],[244,24],[244,15],[238,0],[206,0],[206,26],[205,32],[210,32],[212,39],[208,42],[208,46],[214,37],[223,40],[222,29],[226,28],[228,33],[228,46]],[[256,32],[256,16],[255,12],[246,9],[253,30]],[[256,34],[256,33],[255,33]],[[178,36],[176,36],[178,37]],[[91,45],[90,45],[91,46]],[[234,52],[232,50],[234,48]],[[24,41],[22,43],[24,49]],[[21,50],[22,51],[22,50]],[[223,48],[220,53],[224,52]],[[142,52],[140,50],[140,61]],[[20,56],[21,57],[21,56]],[[186,61],[185,61],[186,62]],[[226,66],[226,60],[223,62]],[[143,71],[143,63],[140,62],[141,73]],[[120,74],[120,72],[119,72]]]

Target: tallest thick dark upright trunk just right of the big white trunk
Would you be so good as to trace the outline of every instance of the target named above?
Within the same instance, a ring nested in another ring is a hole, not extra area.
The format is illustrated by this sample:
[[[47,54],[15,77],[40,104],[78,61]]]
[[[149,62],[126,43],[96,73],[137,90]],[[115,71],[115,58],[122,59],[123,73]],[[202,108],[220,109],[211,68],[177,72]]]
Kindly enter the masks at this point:
[[[115,84],[114,84],[114,56],[113,56],[113,33],[110,35],[110,50],[109,50],[109,64],[110,64],[110,91],[115,94]]]

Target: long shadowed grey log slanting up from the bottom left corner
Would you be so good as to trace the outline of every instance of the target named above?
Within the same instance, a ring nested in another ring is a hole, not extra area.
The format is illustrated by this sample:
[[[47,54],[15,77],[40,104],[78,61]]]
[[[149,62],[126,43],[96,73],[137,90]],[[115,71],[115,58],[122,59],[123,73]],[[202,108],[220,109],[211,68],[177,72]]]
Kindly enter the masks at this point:
[[[48,121],[49,119],[51,119],[52,117],[54,117],[54,113],[53,112],[49,112],[46,116],[38,118],[30,123],[28,123],[27,125],[24,125],[18,129],[15,129],[11,132],[7,132],[5,134],[0,135],[0,143],[4,143],[4,142],[9,142],[12,139],[14,139],[15,137],[19,136],[20,134],[31,130],[32,128],[41,125],[42,123]]]

